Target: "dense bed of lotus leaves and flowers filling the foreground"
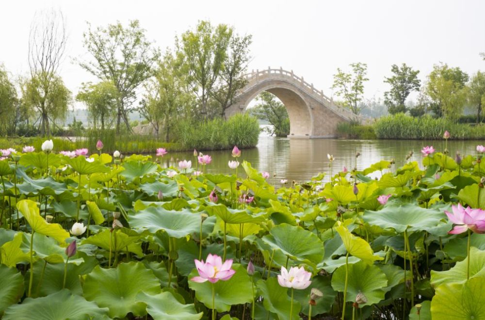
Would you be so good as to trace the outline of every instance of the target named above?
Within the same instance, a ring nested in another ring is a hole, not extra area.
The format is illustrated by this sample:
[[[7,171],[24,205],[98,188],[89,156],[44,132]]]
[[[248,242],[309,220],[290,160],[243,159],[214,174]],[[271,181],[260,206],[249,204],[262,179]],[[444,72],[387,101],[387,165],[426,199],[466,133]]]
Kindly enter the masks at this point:
[[[51,150],[0,160],[1,319],[485,319],[485,148],[277,187]]]

